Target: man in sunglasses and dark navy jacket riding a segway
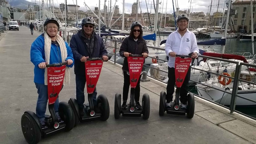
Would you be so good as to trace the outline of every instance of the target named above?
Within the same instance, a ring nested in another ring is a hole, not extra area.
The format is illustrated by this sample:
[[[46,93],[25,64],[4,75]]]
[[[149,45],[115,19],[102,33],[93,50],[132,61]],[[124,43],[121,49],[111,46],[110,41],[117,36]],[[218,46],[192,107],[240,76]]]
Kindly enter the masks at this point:
[[[96,34],[93,29],[95,26],[94,20],[90,17],[82,19],[82,29],[72,36],[70,41],[70,47],[74,56],[74,72],[76,74],[76,98],[79,106],[80,117],[86,114],[83,111],[84,108],[84,87],[86,83],[85,66],[84,62],[88,58],[101,57],[104,61],[108,60],[108,52],[103,45],[102,38]],[[99,112],[100,109],[97,106],[97,91],[96,88],[93,92],[93,105],[95,112]]]

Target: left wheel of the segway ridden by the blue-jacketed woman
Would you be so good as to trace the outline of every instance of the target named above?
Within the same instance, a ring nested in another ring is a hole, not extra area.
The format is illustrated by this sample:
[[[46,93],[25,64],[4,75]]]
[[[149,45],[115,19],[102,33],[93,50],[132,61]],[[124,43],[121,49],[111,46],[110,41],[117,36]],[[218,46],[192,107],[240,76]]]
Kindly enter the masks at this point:
[[[36,123],[35,119],[26,112],[21,117],[21,128],[28,143],[38,143],[40,141],[41,127]]]

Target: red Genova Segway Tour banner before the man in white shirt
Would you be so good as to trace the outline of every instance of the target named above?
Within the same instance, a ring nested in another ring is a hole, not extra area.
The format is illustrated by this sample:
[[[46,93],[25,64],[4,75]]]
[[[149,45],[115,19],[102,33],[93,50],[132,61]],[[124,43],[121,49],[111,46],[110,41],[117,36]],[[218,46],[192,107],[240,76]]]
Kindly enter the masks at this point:
[[[175,80],[177,87],[181,87],[191,63],[191,58],[175,58]]]

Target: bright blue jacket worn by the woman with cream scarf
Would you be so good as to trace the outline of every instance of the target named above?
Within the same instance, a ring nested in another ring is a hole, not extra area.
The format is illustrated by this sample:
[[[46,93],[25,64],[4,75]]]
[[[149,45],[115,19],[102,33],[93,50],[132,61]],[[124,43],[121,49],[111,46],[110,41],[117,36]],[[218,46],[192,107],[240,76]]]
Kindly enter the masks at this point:
[[[66,42],[65,42],[66,43]],[[38,64],[41,62],[45,62],[45,39],[44,35],[40,35],[36,38],[36,40],[32,43],[31,49],[30,49],[30,61],[35,65],[34,68],[34,82],[44,84],[45,83],[45,69],[40,69],[38,67]],[[67,65],[67,67],[72,68],[74,65],[74,58],[71,51],[71,48],[68,46],[68,43],[66,43],[67,47],[67,53],[68,57],[66,60],[71,59],[73,60],[73,63],[71,65]],[[60,54],[60,47],[56,46],[55,44],[51,44],[51,51],[50,51],[50,63],[59,63],[63,62],[61,61],[61,54]]]

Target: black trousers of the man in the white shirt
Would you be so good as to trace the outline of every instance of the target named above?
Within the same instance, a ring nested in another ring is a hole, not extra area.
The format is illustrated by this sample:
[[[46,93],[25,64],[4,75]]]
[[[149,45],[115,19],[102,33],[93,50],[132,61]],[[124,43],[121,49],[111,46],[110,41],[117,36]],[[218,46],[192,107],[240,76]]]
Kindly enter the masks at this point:
[[[188,82],[190,80],[190,71],[191,68],[189,66],[188,73],[184,79],[184,82],[180,88],[180,102],[185,104],[187,102],[187,94],[189,85]],[[166,87],[166,101],[171,102],[173,101],[173,93],[174,93],[174,85],[175,85],[175,69],[168,67],[168,83]]]

